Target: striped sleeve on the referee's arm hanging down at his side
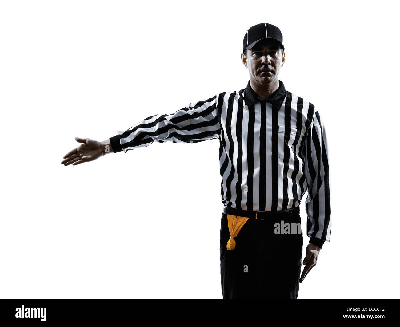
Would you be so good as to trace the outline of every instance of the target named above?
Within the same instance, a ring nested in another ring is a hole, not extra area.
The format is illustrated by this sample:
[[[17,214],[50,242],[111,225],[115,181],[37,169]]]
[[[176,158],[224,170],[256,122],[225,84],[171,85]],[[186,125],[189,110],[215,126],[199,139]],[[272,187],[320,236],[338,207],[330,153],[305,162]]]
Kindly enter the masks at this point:
[[[328,145],[324,124],[318,111],[314,111],[312,124],[306,137],[305,176],[307,181],[307,235],[310,243],[322,248],[330,241],[330,195]]]

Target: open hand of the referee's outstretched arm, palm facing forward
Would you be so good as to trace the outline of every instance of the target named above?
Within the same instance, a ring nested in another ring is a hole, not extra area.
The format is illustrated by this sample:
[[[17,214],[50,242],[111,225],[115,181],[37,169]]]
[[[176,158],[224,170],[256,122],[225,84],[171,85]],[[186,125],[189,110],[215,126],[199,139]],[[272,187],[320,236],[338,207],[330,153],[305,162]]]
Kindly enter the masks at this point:
[[[68,152],[61,164],[68,166],[79,165],[83,162],[95,160],[107,153],[112,152],[109,140],[99,142],[90,138],[75,138],[76,142],[82,143],[77,148]]]

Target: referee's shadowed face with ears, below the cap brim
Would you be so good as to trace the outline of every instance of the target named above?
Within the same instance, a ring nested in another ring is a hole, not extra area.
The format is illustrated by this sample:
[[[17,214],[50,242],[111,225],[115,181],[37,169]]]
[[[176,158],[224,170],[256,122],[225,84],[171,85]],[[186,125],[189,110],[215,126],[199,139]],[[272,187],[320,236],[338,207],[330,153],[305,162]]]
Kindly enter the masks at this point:
[[[261,85],[268,85],[278,80],[280,68],[285,61],[280,45],[274,40],[260,41],[251,50],[247,58],[242,55],[242,62],[250,73],[250,79]]]

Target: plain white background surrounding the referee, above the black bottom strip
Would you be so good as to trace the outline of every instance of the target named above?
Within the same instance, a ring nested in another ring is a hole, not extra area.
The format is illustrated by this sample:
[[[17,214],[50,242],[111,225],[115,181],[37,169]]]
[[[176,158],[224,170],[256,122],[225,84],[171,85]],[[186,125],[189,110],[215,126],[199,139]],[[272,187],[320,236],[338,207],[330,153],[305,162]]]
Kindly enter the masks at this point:
[[[243,36],[268,22],[328,139],[331,241],[298,298],[398,298],[394,3],[2,1],[0,297],[222,299],[218,140],[60,162],[75,136],[245,88]]]

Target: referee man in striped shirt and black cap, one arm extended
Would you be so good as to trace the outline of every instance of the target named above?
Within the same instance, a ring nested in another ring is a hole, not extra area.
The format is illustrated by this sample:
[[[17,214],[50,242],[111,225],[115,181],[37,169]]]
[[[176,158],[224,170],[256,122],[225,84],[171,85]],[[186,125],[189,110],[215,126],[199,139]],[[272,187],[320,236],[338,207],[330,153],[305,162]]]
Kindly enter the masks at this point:
[[[282,33],[272,24],[250,27],[243,39],[246,88],[193,102],[174,114],[150,116],[103,142],[82,145],[61,164],[78,165],[152,142],[220,141],[221,285],[224,299],[297,299],[299,283],[330,241],[328,151],[314,105],[286,91]],[[307,235],[302,275],[299,206]]]

